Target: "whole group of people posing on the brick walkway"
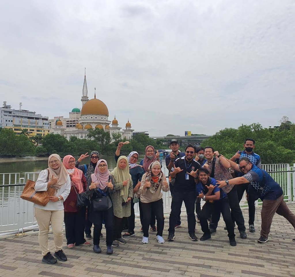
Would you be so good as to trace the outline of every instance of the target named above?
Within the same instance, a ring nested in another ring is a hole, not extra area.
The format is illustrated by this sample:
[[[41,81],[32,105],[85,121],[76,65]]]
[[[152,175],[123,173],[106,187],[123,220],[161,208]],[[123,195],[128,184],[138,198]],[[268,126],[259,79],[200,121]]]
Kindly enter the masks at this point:
[[[224,219],[231,246],[236,245],[234,227],[237,223],[240,238],[246,239],[245,221],[239,202],[247,192],[249,206],[249,231],[255,232],[255,200],[263,201],[261,232],[258,242],[268,241],[271,222],[275,213],[284,216],[295,228],[295,215],[283,200],[283,191],[278,183],[261,169],[261,160],[253,152],[255,141],[245,140],[245,150],[238,151],[231,159],[225,158],[213,147],[196,148],[189,144],[185,152],[179,151],[179,143],[173,139],[171,154],[165,163],[169,170],[169,183],[162,172],[159,152],[147,146],[145,157],[138,164],[139,154],[132,151],[127,157],[120,154],[123,143],[118,144],[115,160],[117,166],[108,169],[106,160],[100,159],[98,151],[82,154],[78,160],[67,155],[61,160],[57,154],[48,158],[48,168],[42,170],[35,184],[35,191],[55,188],[46,206],[34,204],[39,226],[39,244],[42,261],[53,264],[66,261],[63,252],[63,223],[67,247],[90,246],[100,253],[100,238],[104,224],[106,229],[106,253],[113,247],[125,244],[125,238],[135,235],[135,203],[139,204],[142,243],[148,243],[149,230],[157,232],[158,243],[164,243],[164,213],[162,191],[172,195],[169,216],[168,241],[175,239],[175,228],[181,225],[181,206],[184,202],[189,238],[196,241],[196,222],[204,233],[201,241],[211,238],[216,232],[220,215]],[[90,156],[89,164],[83,159]],[[77,208],[78,194],[87,193],[90,205]],[[205,201],[201,208],[201,199]],[[196,211],[196,216],[195,216]],[[196,220],[197,218],[197,220]],[[126,220],[127,227],[123,227]],[[208,221],[210,223],[208,224]],[[157,225],[155,222],[157,221]],[[48,248],[48,232],[52,227],[55,252]],[[123,229],[125,232],[122,235]],[[85,232],[85,237],[84,237]],[[293,239],[295,241],[295,239]]]

